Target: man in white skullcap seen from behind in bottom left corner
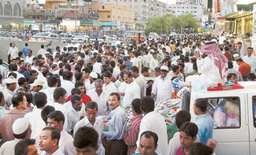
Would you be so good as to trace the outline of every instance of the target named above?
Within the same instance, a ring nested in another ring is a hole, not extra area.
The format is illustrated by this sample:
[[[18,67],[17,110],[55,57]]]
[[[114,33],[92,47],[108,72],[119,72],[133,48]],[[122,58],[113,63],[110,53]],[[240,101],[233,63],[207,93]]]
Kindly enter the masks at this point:
[[[28,120],[24,118],[18,118],[12,124],[12,130],[14,133],[14,140],[5,142],[0,147],[0,155],[12,155],[15,153],[15,145],[23,139],[29,139],[31,135],[31,129]]]

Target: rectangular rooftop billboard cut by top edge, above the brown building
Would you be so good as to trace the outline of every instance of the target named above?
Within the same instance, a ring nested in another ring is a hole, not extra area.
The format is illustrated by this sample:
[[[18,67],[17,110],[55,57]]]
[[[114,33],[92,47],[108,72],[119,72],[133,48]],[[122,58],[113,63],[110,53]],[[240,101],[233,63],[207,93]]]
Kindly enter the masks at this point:
[[[79,11],[79,0],[58,0],[58,10]]]

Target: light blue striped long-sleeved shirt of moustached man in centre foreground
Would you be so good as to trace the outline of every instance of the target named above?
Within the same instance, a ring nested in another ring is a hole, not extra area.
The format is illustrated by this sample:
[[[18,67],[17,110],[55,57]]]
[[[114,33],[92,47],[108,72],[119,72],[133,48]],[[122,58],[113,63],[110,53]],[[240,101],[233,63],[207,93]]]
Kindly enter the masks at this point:
[[[118,106],[109,115],[111,116],[111,120],[109,120],[109,131],[103,132],[102,136],[107,137],[107,140],[123,139],[124,133],[127,130],[127,118],[124,111]]]

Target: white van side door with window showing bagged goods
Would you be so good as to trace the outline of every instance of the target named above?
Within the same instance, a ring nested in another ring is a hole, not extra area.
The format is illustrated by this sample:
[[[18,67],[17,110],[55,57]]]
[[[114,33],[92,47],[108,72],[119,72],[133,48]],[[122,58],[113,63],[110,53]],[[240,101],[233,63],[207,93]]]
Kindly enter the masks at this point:
[[[222,155],[249,154],[250,147],[248,142],[248,118],[245,116],[245,109],[247,109],[245,106],[245,94],[241,92],[234,94],[228,91],[219,91],[201,93],[197,95],[197,98],[207,99],[207,111],[213,117],[214,122],[218,123],[218,127],[213,131],[213,139],[218,142],[215,153]],[[222,109],[222,114],[226,114],[225,117],[220,119],[220,111],[217,111],[217,109]]]

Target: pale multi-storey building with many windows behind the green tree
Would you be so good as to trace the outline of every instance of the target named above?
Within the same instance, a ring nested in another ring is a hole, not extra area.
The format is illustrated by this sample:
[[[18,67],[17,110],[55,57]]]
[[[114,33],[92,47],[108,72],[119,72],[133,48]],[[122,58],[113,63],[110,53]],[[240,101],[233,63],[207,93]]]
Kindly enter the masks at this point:
[[[167,4],[156,0],[92,0],[92,4],[115,4],[135,10],[135,23],[145,25],[146,19],[167,14]]]

